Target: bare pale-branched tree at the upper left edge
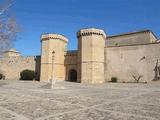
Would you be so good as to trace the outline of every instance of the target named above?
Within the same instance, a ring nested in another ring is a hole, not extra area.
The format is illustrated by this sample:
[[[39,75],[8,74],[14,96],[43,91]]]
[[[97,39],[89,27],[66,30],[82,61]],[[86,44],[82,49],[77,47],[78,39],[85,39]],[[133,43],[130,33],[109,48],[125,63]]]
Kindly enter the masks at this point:
[[[0,3],[0,56],[13,46],[19,32],[16,19],[10,14],[14,0],[3,0]]]

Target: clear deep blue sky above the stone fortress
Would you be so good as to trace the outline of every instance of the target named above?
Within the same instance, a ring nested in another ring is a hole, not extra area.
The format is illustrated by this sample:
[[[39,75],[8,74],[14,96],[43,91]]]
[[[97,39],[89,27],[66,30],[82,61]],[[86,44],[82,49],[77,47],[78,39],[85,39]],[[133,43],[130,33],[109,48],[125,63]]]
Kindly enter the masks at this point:
[[[40,55],[40,36],[59,33],[77,49],[82,28],[103,29],[107,36],[144,29],[160,37],[160,0],[15,0],[13,10],[22,31],[15,48],[23,55]]]

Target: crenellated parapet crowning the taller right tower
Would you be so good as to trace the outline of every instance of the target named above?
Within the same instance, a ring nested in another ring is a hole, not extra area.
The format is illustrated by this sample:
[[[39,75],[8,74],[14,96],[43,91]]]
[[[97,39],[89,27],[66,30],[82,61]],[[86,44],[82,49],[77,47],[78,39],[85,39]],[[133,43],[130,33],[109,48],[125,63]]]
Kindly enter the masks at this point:
[[[81,29],[77,32],[77,37],[81,36],[90,36],[90,35],[100,35],[106,38],[106,33],[104,30],[96,29],[96,28],[87,28],[87,29]]]

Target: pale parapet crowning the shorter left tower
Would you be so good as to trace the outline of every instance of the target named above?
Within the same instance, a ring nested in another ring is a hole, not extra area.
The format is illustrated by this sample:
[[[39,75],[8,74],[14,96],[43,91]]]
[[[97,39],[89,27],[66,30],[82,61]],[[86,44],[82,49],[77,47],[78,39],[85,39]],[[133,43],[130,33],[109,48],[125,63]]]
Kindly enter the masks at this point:
[[[65,36],[60,35],[60,34],[43,34],[41,36],[41,41],[50,40],[50,39],[59,39],[64,42],[68,42],[68,39]]]

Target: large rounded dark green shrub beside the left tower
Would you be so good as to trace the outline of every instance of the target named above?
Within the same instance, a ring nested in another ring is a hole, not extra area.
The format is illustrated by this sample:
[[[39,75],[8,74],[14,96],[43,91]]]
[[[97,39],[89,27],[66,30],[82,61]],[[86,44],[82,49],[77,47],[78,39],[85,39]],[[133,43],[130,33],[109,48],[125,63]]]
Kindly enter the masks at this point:
[[[20,80],[34,80],[35,72],[33,70],[23,70],[20,76]]]

